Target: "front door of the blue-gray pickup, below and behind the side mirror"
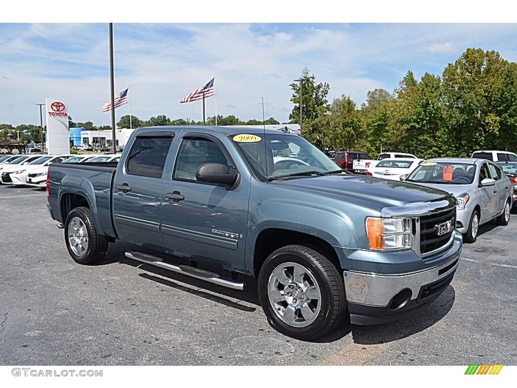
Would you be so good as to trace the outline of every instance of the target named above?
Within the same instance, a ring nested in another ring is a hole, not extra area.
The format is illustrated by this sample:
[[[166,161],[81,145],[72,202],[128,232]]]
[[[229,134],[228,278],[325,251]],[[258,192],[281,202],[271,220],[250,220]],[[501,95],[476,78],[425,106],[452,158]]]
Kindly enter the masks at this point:
[[[194,261],[244,269],[249,182],[229,188],[196,180],[195,172],[204,163],[235,168],[215,137],[186,133],[178,146],[161,205],[166,250]]]

